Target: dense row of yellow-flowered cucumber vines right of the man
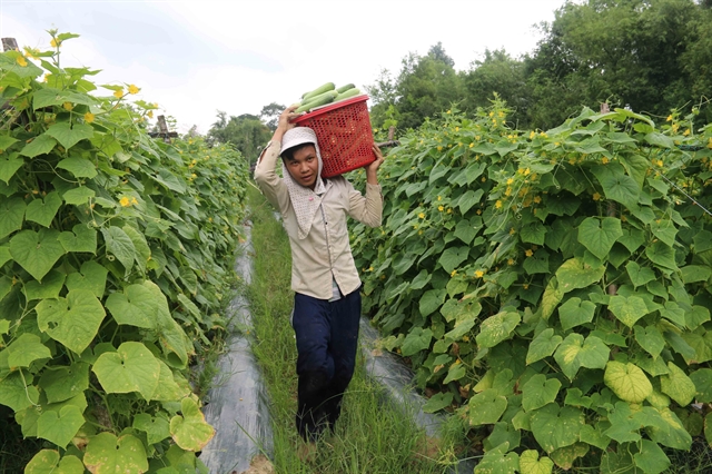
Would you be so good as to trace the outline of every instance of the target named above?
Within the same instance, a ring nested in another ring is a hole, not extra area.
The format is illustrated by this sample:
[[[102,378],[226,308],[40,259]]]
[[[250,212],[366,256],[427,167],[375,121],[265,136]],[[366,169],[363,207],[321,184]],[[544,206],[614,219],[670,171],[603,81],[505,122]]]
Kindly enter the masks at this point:
[[[482,441],[476,472],[659,473],[712,441],[712,126],[507,112],[448,110],[389,152],[384,225],[352,235],[365,309]]]

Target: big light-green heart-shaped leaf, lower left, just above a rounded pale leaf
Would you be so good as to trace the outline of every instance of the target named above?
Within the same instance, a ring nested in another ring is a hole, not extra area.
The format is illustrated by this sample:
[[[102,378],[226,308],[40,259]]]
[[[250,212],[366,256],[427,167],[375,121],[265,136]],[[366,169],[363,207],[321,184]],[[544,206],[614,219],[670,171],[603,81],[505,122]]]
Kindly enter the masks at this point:
[[[43,299],[36,310],[40,330],[77,354],[93,340],[106,316],[101,302],[88,289],[71,290],[67,298]]]

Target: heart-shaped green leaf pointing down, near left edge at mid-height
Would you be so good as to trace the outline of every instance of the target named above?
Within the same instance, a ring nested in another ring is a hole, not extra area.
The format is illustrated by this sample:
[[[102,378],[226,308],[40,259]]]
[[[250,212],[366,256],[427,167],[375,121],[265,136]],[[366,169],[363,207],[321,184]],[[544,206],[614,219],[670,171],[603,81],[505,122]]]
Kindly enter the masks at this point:
[[[65,248],[58,240],[55,229],[22,230],[10,239],[10,255],[36,279],[52,269],[57,260],[65,255]]]

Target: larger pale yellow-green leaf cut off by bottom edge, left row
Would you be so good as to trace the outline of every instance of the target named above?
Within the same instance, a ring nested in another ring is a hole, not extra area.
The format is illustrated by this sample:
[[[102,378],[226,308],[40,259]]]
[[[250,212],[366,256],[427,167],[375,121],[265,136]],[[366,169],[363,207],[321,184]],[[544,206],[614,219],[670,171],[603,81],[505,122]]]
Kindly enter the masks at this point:
[[[131,434],[117,438],[109,432],[99,433],[89,440],[83,457],[92,474],[145,473],[148,460],[144,443]]]

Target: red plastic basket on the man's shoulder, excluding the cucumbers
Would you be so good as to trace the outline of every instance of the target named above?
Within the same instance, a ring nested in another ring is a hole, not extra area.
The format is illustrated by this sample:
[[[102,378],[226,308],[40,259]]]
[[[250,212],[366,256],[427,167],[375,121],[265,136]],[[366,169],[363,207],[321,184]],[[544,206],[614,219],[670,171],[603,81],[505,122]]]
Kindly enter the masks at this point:
[[[309,127],[316,134],[324,161],[322,177],[342,175],[376,159],[366,100],[368,96],[357,96],[294,120],[294,124]]]

